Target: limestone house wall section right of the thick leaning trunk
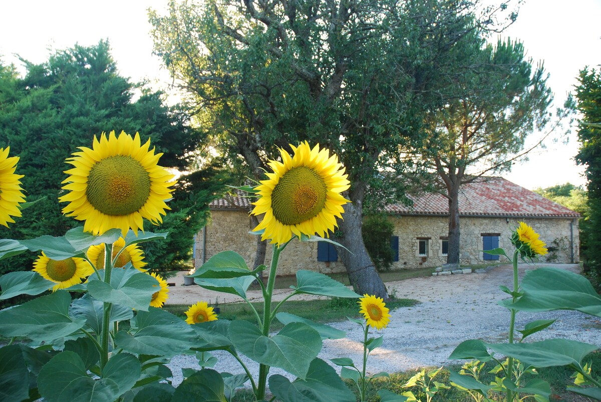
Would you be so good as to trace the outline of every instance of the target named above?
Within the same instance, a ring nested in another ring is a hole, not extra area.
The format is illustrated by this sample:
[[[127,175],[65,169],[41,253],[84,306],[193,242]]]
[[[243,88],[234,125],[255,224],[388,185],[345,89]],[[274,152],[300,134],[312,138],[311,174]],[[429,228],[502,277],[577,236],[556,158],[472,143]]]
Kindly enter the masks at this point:
[[[448,236],[446,216],[391,216],[394,235],[398,236],[398,261],[392,269],[436,267],[447,262],[442,255],[442,239]],[[499,234],[499,247],[508,254],[513,250],[510,242],[511,230],[517,222],[524,221],[540,234],[547,243],[549,254],[541,258],[543,262],[570,263],[579,261],[578,219],[561,218],[460,218],[461,245],[460,264],[483,264],[483,234]],[[570,234],[570,224],[572,232]],[[419,240],[428,242],[428,255],[419,255]],[[572,239],[572,248],[570,248]],[[573,257],[572,257],[573,252]],[[501,257],[502,258],[502,257]]]

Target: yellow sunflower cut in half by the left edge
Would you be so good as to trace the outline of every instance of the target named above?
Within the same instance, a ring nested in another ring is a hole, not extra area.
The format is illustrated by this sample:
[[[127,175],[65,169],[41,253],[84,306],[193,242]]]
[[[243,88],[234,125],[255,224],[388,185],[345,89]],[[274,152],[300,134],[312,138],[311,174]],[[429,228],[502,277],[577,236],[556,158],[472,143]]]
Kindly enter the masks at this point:
[[[25,203],[21,188],[22,174],[15,174],[18,156],[8,157],[10,147],[0,148],[0,225],[14,223],[11,216],[21,216],[19,203]]]

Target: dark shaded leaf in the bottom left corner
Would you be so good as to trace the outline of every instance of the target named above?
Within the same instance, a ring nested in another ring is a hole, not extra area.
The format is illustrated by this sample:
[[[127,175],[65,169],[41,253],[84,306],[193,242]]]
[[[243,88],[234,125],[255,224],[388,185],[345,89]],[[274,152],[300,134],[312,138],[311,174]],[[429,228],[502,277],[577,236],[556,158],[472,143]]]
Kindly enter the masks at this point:
[[[0,348],[0,401],[29,398],[29,371],[19,345]]]

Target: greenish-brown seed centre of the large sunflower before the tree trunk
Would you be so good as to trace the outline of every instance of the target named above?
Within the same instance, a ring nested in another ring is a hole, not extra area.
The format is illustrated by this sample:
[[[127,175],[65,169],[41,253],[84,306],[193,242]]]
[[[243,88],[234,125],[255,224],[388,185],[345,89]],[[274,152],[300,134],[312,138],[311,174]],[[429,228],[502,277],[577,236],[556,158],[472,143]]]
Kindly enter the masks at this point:
[[[273,216],[296,225],[317,216],[326,204],[328,187],[314,169],[299,166],[285,172],[271,194]]]

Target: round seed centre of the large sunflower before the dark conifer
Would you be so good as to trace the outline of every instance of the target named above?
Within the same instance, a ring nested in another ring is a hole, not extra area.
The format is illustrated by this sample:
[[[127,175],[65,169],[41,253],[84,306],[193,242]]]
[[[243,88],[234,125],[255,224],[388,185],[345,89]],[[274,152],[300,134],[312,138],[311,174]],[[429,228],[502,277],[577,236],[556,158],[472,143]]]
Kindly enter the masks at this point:
[[[136,212],[150,195],[150,175],[130,156],[110,156],[90,169],[85,195],[90,204],[106,215]]]

